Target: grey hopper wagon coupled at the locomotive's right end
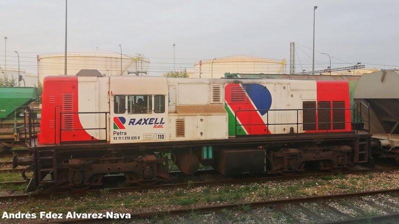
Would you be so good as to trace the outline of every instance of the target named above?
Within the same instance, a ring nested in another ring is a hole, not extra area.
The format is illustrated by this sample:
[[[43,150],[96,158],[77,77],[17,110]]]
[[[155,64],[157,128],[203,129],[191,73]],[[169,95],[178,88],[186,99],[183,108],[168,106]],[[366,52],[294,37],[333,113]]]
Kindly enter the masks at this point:
[[[364,129],[373,134],[373,153],[399,163],[398,83],[398,70],[364,74],[356,84],[354,98],[365,117]]]

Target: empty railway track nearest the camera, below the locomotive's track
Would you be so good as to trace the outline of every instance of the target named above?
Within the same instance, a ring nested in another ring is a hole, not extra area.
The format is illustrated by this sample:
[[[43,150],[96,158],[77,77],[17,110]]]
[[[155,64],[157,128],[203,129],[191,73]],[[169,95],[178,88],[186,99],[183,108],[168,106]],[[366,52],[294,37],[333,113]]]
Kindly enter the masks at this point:
[[[237,203],[215,206],[191,207],[184,209],[156,212],[131,213],[130,219],[113,220],[113,223],[132,222],[141,219],[157,219],[167,214],[170,217],[185,216],[187,220],[201,219],[201,214],[207,214],[207,223],[232,224],[240,219],[254,224],[356,224],[379,223],[399,220],[399,198],[397,202],[390,201],[384,194],[397,195],[399,189],[367,191],[349,194],[313,196],[307,198],[292,198],[268,200],[253,203]],[[378,196],[378,197],[376,197]],[[392,197],[392,196],[390,196]],[[369,208],[369,209],[367,209]],[[372,209],[370,209],[372,208]],[[209,215],[210,214],[210,215]],[[237,218],[243,217],[242,218]],[[212,220],[213,219],[213,220]],[[68,224],[101,224],[109,223],[108,219],[73,219],[57,220],[45,223]]]

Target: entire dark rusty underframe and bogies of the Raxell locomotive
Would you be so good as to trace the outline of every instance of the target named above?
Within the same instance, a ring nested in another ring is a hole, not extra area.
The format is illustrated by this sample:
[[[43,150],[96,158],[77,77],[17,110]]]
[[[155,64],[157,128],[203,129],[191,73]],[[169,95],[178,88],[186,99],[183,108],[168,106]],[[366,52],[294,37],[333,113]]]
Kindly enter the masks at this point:
[[[127,183],[152,185],[170,178],[168,158],[188,175],[200,164],[226,176],[241,174],[292,175],[308,164],[320,170],[339,172],[358,163],[368,163],[370,134],[329,133],[233,138],[228,140],[157,144],[59,145],[35,148],[32,157],[15,159],[14,165],[32,165],[34,176],[28,188],[50,184],[82,190],[102,185],[107,174],[125,176]],[[134,148],[132,148],[134,147]]]

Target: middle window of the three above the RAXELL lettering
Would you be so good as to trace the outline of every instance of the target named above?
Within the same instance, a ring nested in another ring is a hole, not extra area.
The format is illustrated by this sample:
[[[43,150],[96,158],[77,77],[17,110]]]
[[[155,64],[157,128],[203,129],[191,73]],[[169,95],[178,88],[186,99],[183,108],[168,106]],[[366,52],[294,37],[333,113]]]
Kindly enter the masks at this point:
[[[129,95],[128,114],[151,114],[152,96],[149,95]]]

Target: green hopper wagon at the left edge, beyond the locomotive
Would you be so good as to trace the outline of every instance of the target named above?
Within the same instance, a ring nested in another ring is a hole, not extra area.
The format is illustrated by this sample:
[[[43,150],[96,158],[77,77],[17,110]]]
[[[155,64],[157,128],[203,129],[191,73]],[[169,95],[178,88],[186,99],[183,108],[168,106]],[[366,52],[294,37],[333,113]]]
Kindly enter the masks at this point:
[[[36,99],[37,88],[0,87],[0,146],[2,149],[18,149],[21,146],[21,140],[25,138],[24,109]]]

